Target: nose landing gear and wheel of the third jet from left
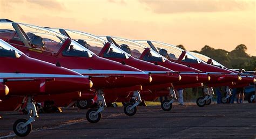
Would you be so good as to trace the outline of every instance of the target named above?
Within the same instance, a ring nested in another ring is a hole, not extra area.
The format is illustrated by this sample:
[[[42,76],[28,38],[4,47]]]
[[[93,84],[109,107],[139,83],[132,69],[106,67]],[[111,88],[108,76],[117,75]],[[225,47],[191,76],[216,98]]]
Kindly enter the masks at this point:
[[[130,103],[124,105],[124,113],[128,116],[132,116],[137,112],[137,106],[142,102],[139,91],[133,92],[133,97]]]

